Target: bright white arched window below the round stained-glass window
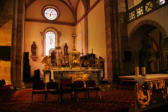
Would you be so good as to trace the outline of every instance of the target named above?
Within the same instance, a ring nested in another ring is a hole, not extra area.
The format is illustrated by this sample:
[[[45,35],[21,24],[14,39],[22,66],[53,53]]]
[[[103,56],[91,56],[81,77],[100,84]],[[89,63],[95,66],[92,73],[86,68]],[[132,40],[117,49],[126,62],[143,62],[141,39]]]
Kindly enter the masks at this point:
[[[45,33],[45,55],[49,56],[50,51],[54,50],[56,46],[56,33],[47,31]]]

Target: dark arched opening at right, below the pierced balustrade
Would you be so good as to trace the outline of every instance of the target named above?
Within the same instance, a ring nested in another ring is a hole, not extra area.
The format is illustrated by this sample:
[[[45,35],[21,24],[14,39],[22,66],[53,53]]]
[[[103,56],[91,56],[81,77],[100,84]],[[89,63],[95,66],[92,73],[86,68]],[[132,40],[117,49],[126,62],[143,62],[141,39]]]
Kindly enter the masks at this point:
[[[139,23],[128,39],[131,63],[134,66],[145,66],[147,73],[164,72],[167,69],[163,48],[165,34],[165,30],[156,22]]]

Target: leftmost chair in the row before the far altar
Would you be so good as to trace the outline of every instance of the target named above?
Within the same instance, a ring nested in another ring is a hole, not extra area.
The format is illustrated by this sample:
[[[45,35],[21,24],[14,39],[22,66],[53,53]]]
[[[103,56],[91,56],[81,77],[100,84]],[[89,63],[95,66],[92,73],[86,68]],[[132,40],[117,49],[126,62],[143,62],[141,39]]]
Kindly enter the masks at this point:
[[[35,81],[35,82],[33,82],[32,104],[33,104],[33,96],[35,94],[44,94],[45,103],[47,103],[47,90],[45,89],[45,84],[44,84],[43,81]]]

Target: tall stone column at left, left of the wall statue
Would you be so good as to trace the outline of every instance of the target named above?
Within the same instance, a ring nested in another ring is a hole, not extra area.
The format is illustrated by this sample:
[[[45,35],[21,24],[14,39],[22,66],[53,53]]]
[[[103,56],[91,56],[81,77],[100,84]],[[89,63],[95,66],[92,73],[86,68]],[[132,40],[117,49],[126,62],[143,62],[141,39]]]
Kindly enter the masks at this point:
[[[25,0],[13,0],[13,28],[11,51],[11,81],[16,88],[22,87]]]

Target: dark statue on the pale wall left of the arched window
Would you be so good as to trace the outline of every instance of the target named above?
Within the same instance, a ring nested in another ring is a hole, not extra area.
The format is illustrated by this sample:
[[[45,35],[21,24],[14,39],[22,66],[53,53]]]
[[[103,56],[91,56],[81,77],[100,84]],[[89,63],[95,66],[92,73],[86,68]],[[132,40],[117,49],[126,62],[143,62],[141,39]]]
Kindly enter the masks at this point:
[[[37,45],[35,43],[35,41],[33,41],[32,45],[31,45],[31,58],[33,61],[37,60]]]

